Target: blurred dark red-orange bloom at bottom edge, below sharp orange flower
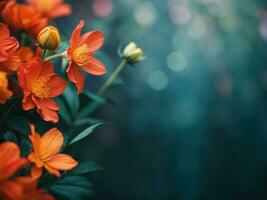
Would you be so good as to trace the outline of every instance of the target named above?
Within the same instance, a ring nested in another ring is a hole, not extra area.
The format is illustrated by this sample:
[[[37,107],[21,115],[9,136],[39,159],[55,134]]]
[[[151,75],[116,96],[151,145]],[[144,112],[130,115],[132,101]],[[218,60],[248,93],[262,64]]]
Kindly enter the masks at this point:
[[[37,180],[31,177],[18,177],[15,182],[22,187],[23,198],[21,200],[54,200],[54,197],[38,189]]]

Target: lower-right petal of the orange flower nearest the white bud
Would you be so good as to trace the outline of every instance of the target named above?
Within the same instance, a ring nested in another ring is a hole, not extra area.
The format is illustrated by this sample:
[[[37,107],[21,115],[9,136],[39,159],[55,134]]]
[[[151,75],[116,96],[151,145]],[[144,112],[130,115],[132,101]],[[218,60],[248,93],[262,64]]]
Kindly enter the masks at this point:
[[[105,66],[99,60],[95,58],[90,58],[88,65],[82,66],[82,69],[89,74],[102,75],[107,72]]]

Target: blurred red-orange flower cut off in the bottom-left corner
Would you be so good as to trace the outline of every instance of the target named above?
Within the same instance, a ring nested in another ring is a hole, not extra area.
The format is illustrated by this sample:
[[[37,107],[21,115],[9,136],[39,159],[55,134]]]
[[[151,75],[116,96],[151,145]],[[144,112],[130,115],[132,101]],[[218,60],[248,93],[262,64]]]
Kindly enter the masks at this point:
[[[15,180],[9,178],[24,167],[28,160],[20,157],[19,147],[12,142],[0,144],[0,158],[0,199],[22,199],[22,187]]]

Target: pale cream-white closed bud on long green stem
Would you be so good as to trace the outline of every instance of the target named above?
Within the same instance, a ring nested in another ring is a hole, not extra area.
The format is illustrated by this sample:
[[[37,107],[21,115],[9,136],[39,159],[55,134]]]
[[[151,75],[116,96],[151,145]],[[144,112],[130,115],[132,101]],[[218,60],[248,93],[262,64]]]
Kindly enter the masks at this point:
[[[126,45],[123,48],[121,55],[129,64],[139,63],[145,58],[143,50],[138,48],[137,44],[134,42]]]

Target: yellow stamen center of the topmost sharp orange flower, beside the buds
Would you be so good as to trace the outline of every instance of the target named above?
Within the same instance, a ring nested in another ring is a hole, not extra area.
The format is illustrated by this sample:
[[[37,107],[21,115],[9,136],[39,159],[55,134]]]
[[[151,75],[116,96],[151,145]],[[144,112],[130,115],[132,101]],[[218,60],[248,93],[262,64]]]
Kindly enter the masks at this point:
[[[91,53],[86,44],[76,48],[73,53],[73,60],[79,66],[87,65],[90,59]]]

